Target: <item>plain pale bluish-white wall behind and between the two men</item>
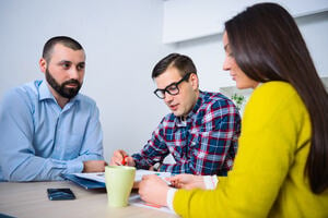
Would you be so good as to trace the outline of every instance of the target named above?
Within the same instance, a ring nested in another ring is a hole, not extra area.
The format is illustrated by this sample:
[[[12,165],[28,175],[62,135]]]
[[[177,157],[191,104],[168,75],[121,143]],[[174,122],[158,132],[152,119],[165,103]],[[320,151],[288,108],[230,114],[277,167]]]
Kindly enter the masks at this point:
[[[0,98],[10,87],[43,78],[47,39],[68,35],[86,51],[82,93],[101,110],[105,158],[139,150],[166,106],[153,95],[154,64],[172,48],[162,39],[161,0],[0,0]]]

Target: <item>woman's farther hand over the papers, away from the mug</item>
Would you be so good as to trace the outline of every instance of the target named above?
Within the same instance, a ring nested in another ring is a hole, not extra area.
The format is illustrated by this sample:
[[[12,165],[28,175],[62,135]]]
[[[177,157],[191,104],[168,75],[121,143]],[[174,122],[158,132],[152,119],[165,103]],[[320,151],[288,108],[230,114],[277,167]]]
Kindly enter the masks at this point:
[[[167,181],[174,187],[192,190],[192,189],[206,189],[203,177],[195,174],[177,174],[175,177],[168,178]]]

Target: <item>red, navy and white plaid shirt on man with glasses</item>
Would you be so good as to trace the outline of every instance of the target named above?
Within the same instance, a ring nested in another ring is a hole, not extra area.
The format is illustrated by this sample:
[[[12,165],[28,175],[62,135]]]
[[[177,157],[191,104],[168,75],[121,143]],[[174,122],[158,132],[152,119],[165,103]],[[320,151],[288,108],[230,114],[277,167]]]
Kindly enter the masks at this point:
[[[160,171],[225,175],[233,167],[241,133],[241,117],[232,100],[219,93],[200,92],[186,120],[167,114],[139,154],[138,169],[149,169],[172,154],[175,164]]]

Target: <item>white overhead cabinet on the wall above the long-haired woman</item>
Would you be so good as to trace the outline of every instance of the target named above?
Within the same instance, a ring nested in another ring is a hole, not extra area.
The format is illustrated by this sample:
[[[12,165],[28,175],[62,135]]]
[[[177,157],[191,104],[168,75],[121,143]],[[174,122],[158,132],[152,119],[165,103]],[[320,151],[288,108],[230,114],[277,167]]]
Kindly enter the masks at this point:
[[[166,0],[163,43],[177,43],[221,34],[226,20],[246,7],[259,2],[263,0]],[[327,0],[270,0],[270,2],[281,4],[294,17],[328,10]]]

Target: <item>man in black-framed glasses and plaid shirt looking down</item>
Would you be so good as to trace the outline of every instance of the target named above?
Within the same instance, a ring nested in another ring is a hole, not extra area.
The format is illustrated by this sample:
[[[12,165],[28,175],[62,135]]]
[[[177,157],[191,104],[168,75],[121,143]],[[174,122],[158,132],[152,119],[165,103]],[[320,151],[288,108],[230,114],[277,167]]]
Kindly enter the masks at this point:
[[[172,173],[225,175],[232,169],[241,132],[241,118],[233,101],[219,93],[199,90],[192,60],[171,53],[153,69],[154,94],[172,113],[165,116],[142,150],[128,156],[116,150],[110,165]],[[163,164],[172,155],[175,164]]]

